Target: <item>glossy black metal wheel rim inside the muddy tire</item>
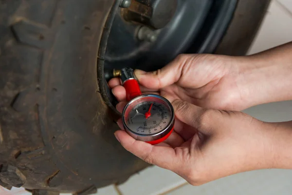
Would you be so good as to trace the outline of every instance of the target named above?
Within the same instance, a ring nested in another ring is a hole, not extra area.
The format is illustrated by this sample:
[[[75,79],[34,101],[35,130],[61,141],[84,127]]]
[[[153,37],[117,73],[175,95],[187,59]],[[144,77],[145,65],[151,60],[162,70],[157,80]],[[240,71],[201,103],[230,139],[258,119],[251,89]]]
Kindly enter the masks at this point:
[[[105,72],[122,67],[153,71],[181,53],[213,53],[236,9],[237,0],[178,0],[176,13],[156,40],[139,40],[141,26],[125,21],[116,1],[103,33],[98,59],[98,80],[105,102],[115,111]]]

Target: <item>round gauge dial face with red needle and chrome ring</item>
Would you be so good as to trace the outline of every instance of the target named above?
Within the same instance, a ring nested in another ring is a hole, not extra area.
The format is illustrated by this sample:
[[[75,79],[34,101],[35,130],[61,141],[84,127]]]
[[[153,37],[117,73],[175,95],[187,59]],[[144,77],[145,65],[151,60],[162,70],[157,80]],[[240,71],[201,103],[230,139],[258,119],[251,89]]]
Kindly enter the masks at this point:
[[[157,95],[144,95],[128,103],[124,111],[124,124],[139,135],[153,135],[167,129],[173,121],[170,102]]]

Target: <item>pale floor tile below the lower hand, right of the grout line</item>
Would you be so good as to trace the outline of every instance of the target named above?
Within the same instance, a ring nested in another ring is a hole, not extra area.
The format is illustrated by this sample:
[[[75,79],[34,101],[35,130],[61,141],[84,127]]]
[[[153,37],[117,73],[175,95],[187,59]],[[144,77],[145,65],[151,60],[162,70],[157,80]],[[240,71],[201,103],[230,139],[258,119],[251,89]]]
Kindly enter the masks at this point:
[[[221,178],[201,186],[189,184],[165,195],[291,195],[292,170],[259,170]]]

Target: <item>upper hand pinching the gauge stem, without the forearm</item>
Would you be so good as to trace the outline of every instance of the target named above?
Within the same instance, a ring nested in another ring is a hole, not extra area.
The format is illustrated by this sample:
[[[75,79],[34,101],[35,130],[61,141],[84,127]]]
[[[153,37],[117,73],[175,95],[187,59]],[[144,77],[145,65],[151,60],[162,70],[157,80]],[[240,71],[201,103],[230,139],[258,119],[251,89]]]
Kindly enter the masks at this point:
[[[205,108],[241,110],[246,108],[237,82],[242,58],[183,54],[160,70],[135,70],[135,75],[144,93],[158,92]],[[118,78],[110,80],[109,85],[115,97],[124,101],[126,91],[119,86]]]

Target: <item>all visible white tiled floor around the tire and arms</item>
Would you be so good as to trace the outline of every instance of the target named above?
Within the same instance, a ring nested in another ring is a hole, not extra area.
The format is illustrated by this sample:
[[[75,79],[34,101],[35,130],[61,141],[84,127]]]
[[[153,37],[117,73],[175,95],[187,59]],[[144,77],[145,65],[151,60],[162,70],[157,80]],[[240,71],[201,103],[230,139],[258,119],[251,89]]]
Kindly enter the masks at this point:
[[[249,54],[289,41],[292,41],[292,0],[273,0]],[[291,120],[292,101],[259,105],[244,112],[264,121]],[[111,185],[98,189],[96,195],[292,195],[292,170],[246,172],[194,187],[180,176],[153,166],[117,189]],[[14,190],[13,195],[27,195]],[[1,189],[0,194],[4,195]]]

